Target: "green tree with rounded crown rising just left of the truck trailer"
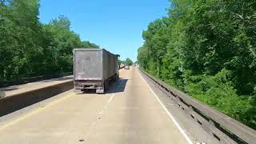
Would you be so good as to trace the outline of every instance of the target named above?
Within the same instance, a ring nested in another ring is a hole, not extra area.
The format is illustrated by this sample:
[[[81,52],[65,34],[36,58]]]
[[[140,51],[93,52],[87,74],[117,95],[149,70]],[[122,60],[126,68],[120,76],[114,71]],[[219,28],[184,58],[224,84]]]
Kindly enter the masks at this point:
[[[62,72],[71,71],[73,66],[73,49],[82,46],[82,42],[73,31],[70,31],[70,20],[60,16],[44,26],[45,30],[54,39],[51,49],[58,66],[56,69]]]

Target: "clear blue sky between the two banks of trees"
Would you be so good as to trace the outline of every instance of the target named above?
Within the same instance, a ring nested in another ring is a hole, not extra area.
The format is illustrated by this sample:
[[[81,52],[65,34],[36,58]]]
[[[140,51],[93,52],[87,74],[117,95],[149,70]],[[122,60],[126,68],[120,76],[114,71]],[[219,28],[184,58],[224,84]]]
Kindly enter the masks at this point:
[[[106,48],[121,59],[137,59],[142,30],[149,22],[166,16],[168,0],[41,0],[40,21],[65,15],[82,40]]]

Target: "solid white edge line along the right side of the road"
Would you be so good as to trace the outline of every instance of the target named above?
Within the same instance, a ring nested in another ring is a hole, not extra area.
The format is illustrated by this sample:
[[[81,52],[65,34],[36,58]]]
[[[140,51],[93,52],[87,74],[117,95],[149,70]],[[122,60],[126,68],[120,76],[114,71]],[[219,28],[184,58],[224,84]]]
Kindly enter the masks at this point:
[[[137,71],[138,72],[138,71]],[[182,129],[181,126],[179,126],[178,122],[175,120],[174,116],[172,114],[170,114],[170,112],[166,109],[166,106],[164,106],[162,104],[162,102],[160,101],[160,99],[158,98],[158,95],[154,93],[154,91],[150,88],[149,84],[146,82],[146,80],[142,77],[142,74],[139,73],[139,76],[142,78],[142,80],[146,83],[146,86],[150,89],[151,93],[154,95],[155,98],[157,98],[158,102],[161,104],[162,108],[164,110],[166,110],[166,113],[168,114],[168,116],[171,118],[171,120],[174,122],[174,124],[178,127],[178,130],[181,131],[182,135],[186,138],[186,141],[189,144],[193,144],[193,142],[190,140],[190,138],[186,135],[185,130]]]

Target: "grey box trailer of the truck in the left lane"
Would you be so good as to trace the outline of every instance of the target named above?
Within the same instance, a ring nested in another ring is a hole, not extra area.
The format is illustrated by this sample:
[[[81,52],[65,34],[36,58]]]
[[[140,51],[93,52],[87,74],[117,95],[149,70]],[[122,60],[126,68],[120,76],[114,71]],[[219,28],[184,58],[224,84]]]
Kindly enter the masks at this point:
[[[118,56],[105,49],[74,49],[74,89],[104,93],[119,78]]]

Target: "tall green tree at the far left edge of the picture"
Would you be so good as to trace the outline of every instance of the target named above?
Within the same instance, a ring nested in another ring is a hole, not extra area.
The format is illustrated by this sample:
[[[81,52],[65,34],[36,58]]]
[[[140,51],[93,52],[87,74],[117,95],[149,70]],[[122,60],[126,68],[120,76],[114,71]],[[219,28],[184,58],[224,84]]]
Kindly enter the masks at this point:
[[[42,26],[38,22],[38,1],[13,0],[2,2],[1,53],[3,58],[0,74],[4,79],[38,71],[42,55]]]

